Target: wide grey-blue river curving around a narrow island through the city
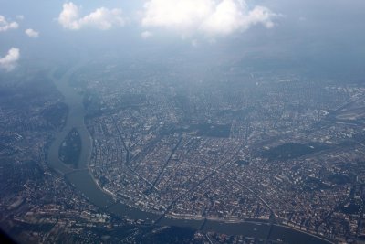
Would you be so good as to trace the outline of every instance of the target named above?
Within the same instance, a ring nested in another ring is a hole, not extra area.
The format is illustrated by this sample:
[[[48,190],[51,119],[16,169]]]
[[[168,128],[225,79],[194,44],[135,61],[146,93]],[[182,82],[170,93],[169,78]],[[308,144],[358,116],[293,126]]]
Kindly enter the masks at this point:
[[[129,216],[135,219],[143,219],[146,223],[152,223],[159,219],[158,225],[189,227],[203,229],[204,231],[215,231],[229,235],[245,235],[257,239],[280,239],[287,243],[331,243],[326,239],[299,231],[294,228],[273,225],[267,222],[239,222],[227,223],[218,220],[193,220],[193,219],[175,219],[162,217],[156,214],[142,211],[138,208],[129,207],[120,202],[116,202],[110,195],[105,193],[95,183],[89,173],[89,160],[92,149],[92,139],[85,126],[84,117],[86,111],[83,106],[82,95],[77,92],[70,84],[69,80],[74,72],[79,69],[75,66],[54,81],[57,89],[64,96],[64,101],[68,105],[68,119],[62,131],[54,136],[47,152],[48,164],[60,175],[64,175],[70,184],[75,186],[78,191],[89,198],[89,201],[96,206],[110,212],[113,215],[124,217]],[[76,128],[81,137],[81,155],[78,161],[78,169],[69,168],[58,159],[58,149],[67,136],[67,134]]]

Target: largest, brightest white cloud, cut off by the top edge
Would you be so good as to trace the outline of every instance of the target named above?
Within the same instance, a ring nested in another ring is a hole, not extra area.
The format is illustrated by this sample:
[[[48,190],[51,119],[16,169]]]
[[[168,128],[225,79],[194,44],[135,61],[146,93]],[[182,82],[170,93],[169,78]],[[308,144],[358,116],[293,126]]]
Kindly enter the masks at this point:
[[[144,5],[143,27],[164,27],[183,35],[229,35],[257,24],[273,27],[277,15],[265,6],[249,8],[244,0],[149,0]]]

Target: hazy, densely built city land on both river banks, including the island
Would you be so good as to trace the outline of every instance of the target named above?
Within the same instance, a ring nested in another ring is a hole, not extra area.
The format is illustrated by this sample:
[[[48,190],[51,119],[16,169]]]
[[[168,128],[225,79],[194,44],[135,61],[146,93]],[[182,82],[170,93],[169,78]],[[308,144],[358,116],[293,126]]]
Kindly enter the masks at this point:
[[[285,242],[164,226],[162,217],[365,240],[365,87],[357,80],[172,59],[81,66],[69,82],[87,111],[88,171],[114,202],[159,216],[146,223],[96,207],[49,166],[47,149],[69,110],[52,81],[67,69],[1,75],[9,82],[0,89],[0,227],[16,240]],[[82,170],[81,149],[75,128],[59,149],[70,172]]]

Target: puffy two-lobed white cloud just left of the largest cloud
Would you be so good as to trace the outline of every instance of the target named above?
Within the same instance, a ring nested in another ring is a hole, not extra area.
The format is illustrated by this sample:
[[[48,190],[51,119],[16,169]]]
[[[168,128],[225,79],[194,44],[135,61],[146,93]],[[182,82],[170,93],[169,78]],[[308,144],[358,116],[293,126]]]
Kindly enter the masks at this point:
[[[108,9],[100,7],[88,16],[79,16],[78,6],[72,2],[63,5],[63,10],[58,16],[58,23],[67,29],[78,30],[82,27],[96,27],[102,30],[113,26],[123,26],[124,18],[119,8]]]

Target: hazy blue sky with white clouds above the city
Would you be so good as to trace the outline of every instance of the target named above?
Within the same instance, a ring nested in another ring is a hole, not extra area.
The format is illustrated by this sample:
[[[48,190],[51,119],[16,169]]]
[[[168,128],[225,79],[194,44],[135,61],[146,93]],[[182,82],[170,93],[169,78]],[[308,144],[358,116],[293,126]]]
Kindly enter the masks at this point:
[[[83,50],[360,74],[363,23],[363,0],[0,0],[0,72]]]

